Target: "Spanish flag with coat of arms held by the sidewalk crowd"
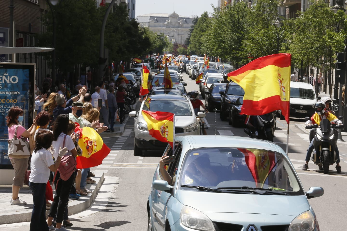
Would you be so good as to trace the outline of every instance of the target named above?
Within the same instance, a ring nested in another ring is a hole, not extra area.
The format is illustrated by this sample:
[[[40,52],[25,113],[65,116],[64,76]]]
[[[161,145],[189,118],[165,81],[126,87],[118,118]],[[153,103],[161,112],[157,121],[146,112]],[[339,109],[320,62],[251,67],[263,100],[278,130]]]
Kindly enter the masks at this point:
[[[110,153],[101,136],[91,127],[80,128],[78,123],[75,132],[79,132],[78,146],[82,156],[77,156],[77,168],[91,168],[101,165],[102,160]]]

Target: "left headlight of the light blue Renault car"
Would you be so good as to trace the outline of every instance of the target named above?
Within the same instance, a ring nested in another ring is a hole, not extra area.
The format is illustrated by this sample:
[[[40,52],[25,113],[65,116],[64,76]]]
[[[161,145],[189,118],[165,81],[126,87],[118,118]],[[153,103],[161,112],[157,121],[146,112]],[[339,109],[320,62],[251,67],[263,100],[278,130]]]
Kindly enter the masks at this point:
[[[180,214],[181,222],[184,226],[195,230],[215,231],[211,219],[189,206],[183,206]]]

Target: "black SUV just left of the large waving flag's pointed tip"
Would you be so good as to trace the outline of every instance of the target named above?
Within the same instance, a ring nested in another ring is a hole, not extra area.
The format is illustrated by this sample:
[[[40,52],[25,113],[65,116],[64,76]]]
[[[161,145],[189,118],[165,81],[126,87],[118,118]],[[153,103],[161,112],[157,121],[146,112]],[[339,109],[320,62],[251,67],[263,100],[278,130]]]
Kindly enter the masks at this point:
[[[227,89],[220,93],[222,98],[220,101],[221,110],[219,116],[221,120],[226,120],[236,99],[240,96],[244,96],[245,91],[237,83],[229,83]]]

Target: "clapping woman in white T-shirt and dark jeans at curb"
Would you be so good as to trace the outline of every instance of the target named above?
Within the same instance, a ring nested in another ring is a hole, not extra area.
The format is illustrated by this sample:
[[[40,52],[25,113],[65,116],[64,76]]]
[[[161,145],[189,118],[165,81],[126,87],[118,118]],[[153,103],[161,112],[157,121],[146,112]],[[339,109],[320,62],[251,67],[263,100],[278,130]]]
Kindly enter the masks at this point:
[[[29,187],[33,192],[33,212],[31,214],[30,230],[48,231],[46,222],[46,184],[49,171],[57,171],[60,159],[67,152],[67,148],[58,151],[58,157],[54,163],[52,154],[48,150],[54,139],[50,131],[40,130],[36,133],[35,149],[31,158],[31,172]]]

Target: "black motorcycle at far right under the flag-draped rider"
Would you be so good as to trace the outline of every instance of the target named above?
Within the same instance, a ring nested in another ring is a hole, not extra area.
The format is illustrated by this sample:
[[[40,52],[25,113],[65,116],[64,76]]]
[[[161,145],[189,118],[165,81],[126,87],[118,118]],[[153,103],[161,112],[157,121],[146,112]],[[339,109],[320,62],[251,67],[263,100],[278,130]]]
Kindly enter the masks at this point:
[[[340,116],[342,119],[344,116]],[[310,117],[305,117],[306,120],[311,120]],[[314,152],[312,155],[313,162],[318,165],[319,170],[323,170],[324,174],[328,174],[329,165],[333,165],[337,161],[335,153],[338,129],[344,125],[331,124],[329,119],[322,119],[320,125],[307,125],[306,129],[315,129],[313,136]]]

